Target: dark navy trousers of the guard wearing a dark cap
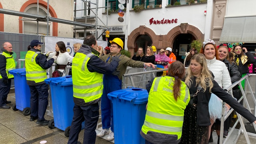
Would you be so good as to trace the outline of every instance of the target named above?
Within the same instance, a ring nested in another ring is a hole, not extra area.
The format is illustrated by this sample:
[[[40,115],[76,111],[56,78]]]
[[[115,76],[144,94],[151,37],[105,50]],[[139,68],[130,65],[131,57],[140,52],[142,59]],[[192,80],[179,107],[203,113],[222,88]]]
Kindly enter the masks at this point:
[[[48,105],[48,84],[29,86],[31,116],[38,120],[45,120],[44,115]]]

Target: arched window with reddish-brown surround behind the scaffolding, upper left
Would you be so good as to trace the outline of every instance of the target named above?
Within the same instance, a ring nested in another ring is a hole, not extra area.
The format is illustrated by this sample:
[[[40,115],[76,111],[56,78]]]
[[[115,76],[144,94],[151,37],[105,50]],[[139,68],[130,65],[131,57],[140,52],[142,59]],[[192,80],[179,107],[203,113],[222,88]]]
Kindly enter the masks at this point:
[[[37,5],[34,5],[34,4],[29,5],[24,12],[37,15]],[[39,6],[38,15],[46,16],[47,10],[44,7]],[[24,29],[23,29],[24,34],[37,34],[37,22],[35,21],[35,19],[24,17],[23,26],[24,26]],[[51,27],[52,27],[52,23],[49,22],[48,35],[52,35]],[[42,21],[38,22],[38,34],[47,35],[47,22],[42,22]]]

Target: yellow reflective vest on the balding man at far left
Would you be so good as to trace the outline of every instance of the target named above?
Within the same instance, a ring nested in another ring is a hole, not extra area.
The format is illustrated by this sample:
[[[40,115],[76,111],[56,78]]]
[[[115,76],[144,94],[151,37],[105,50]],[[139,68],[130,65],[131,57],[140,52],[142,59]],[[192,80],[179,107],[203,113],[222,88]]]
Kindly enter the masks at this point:
[[[0,53],[2,55],[4,55],[6,57],[6,74],[8,78],[13,78],[13,75],[9,73],[10,70],[15,69],[15,61],[12,55],[10,55],[10,53]],[[0,79],[2,78],[2,76],[0,75]]]

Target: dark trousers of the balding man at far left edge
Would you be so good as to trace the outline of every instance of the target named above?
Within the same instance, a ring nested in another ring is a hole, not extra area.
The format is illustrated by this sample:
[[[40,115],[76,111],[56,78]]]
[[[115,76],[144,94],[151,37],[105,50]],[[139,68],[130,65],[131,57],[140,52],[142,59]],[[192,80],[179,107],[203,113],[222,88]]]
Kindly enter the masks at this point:
[[[10,92],[11,79],[8,79],[8,83],[4,84],[3,79],[0,80],[0,106],[6,105],[7,95]]]

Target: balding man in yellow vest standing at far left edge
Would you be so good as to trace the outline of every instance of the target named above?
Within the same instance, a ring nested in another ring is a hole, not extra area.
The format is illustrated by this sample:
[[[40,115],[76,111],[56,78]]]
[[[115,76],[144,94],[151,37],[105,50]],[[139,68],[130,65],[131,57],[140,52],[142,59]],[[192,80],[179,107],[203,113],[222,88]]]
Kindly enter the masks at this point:
[[[15,69],[15,61],[12,56],[12,44],[5,42],[2,45],[2,53],[0,53],[0,108],[9,109],[11,101],[7,101],[7,95],[11,89],[11,79],[13,75],[9,74],[9,70]]]

